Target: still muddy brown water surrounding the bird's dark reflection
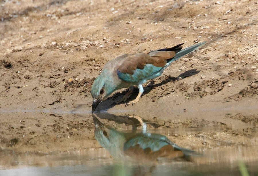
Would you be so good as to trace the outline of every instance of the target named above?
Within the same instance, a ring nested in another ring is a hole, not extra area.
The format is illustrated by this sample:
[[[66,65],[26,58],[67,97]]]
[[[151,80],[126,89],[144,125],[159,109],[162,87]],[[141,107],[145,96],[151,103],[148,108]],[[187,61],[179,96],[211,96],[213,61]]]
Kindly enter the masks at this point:
[[[146,160],[138,153],[121,155],[123,139],[117,143],[115,139],[111,148],[99,143],[102,139],[94,137],[91,114],[3,113],[0,175],[244,175],[245,170],[258,175],[256,123],[235,122],[227,114],[223,122],[218,120],[222,116],[205,121],[202,115],[187,119],[184,114],[177,119],[145,114],[145,127],[125,114],[97,114],[106,131],[141,137],[150,133],[159,139],[164,135],[179,147],[201,154],[191,159],[172,155]],[[114,139],[107,133],[100,134]],[[7,141],[12,138],[17,138],[17,144]]]

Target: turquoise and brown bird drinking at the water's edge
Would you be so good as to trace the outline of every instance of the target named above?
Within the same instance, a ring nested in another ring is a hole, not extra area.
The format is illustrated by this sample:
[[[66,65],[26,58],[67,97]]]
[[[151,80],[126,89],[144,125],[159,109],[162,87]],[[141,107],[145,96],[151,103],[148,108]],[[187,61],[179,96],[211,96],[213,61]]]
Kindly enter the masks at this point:
[[[129,91],[117,103],[126,101],[133,91],[133,86],[137,85],[139,93],[136,99],[126,103],[134,105],[143,93],[142,84],[150,79],[159,77],[171,62],[194,51],[206,42],[198,43],[182,49],[183,43],[172,48],[163,48],[146,53],[124,54],[114,60],[107,62],[101,74],[95,79],[91,87],[93,98],[92,112],[98,104],[114,91],[129,87]]]

